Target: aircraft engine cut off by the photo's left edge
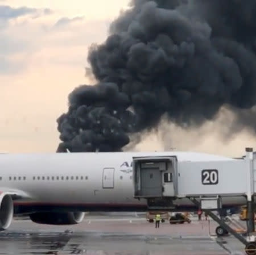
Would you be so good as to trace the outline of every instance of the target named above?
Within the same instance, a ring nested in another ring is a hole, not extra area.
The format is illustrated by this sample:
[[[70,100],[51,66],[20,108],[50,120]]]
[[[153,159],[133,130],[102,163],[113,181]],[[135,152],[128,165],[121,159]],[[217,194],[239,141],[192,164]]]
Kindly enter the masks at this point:
[[[4,231],[10,227],[13,220],[13,199],[11,195],[2,193],[0,195],[0,231]]]

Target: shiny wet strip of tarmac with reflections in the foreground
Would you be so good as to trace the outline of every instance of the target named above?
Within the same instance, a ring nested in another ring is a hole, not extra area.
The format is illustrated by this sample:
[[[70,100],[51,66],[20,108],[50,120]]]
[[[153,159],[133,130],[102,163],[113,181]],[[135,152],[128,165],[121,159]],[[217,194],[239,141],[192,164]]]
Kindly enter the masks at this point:
[[[22,233],[0,235],[0,254],[225,254],[209,237],[119,235],[118,233]],[[212,251],[212,252],[211,252]]]

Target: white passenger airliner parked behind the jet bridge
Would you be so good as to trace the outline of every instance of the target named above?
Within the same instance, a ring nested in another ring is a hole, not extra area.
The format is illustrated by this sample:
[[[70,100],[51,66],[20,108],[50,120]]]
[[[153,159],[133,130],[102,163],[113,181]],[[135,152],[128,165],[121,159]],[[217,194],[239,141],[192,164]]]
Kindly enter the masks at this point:
[[[133,157],[175,157],[181,161],[235,160],[193,152],[0,154],[0,229],[14,215],[42,224],[77,224],[86,211],[148,211],[134,198]],[[170,180],[168,180],[170,182]],[[226,197],[238,207],[244,197]],[[173,211],[196,211],[189,199],[174,200]],[[169,210],[169,211],[172,211]]]

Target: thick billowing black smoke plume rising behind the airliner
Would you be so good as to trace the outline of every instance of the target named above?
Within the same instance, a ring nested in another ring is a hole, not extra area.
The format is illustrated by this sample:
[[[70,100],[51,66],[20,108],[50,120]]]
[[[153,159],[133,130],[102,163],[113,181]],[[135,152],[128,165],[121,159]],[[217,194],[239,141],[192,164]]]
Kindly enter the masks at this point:
[[[98,83],[69,94],[57,151],[121,151],[163,114],[196,127],[224,105],[256,129],[255,52],[255,0],[134,0],[90,47]]]

